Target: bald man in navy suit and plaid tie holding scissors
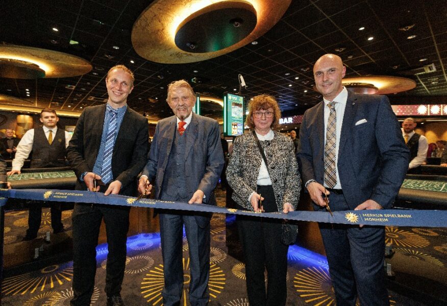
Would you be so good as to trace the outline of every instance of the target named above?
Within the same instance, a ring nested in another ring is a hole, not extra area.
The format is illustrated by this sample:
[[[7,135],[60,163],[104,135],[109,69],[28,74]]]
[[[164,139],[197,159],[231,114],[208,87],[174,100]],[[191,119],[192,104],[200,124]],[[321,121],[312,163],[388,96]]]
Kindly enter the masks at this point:
[[[390,209],[408,168],[409,150],[386,96],[361,95],[341,84],[346,68],[327,54],[313,68],[324,100],[307,110],[297,157],[314,209]],[[337,305],[389,305],[382,226],[320,223]]]

